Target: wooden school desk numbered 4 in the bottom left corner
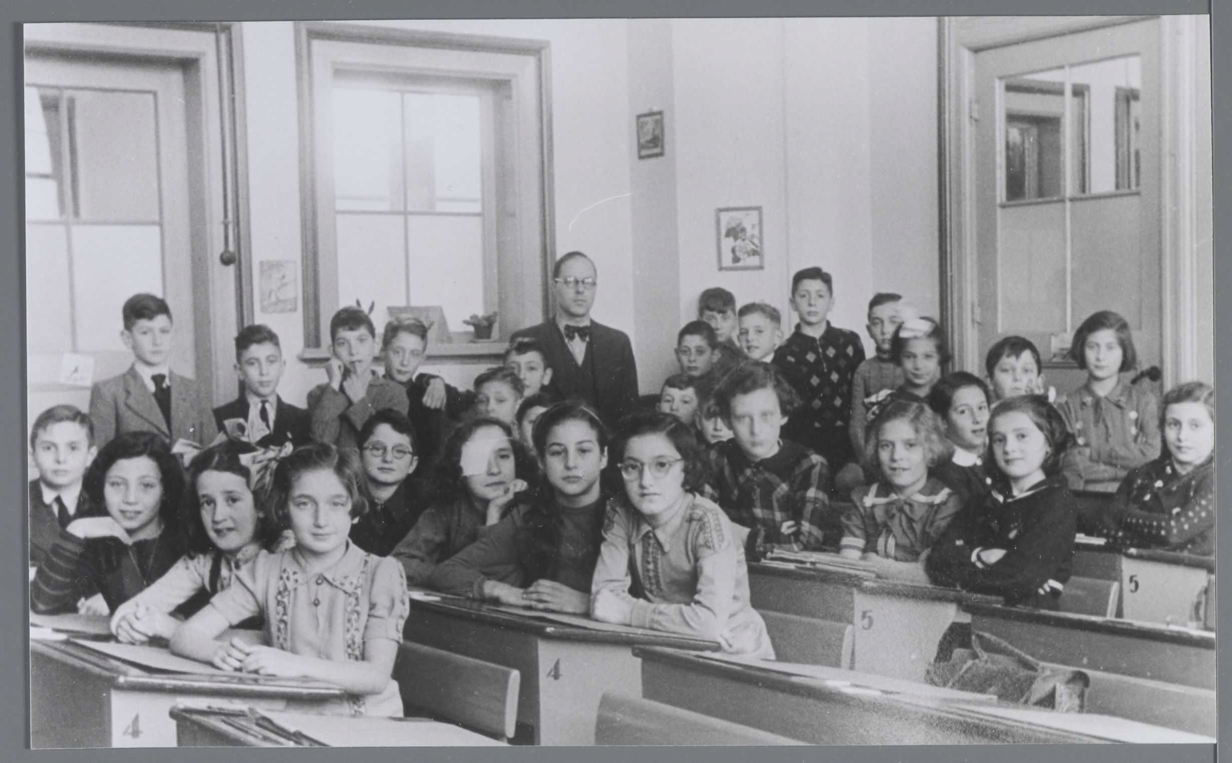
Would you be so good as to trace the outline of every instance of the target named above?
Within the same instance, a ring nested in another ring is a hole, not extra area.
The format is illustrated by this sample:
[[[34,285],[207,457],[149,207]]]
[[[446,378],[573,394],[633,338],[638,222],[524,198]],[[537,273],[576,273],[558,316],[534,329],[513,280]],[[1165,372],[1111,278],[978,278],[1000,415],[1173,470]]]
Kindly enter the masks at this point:
[[[342,697],[298,678],[159,673],[74,641],[31,641],[31,746],[174,747],[176,704],[281,709]]]

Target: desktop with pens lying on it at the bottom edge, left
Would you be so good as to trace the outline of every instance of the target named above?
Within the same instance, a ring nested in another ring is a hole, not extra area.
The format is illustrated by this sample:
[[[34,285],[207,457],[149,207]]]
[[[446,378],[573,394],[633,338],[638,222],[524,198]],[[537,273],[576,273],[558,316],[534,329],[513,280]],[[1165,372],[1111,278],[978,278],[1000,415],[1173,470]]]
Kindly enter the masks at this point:
[[[179,747],[504,747],[482,733],[423,717],[307,716],[172,708]],[[274,721],[274,722],[269,722]]]

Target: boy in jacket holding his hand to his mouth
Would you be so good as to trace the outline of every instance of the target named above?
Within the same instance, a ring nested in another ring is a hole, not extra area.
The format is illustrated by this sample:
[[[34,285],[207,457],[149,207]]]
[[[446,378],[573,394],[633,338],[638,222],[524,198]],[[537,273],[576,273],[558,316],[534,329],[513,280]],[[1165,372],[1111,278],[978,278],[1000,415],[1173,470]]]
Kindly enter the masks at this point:
[[[312,437],[339,448],[359,448],[360,429],[384,409],[407,415],[407,391],[397,382],[372,372],[376,329],[368,314],[346,306],[329,321],[329,382],[308,393]]]

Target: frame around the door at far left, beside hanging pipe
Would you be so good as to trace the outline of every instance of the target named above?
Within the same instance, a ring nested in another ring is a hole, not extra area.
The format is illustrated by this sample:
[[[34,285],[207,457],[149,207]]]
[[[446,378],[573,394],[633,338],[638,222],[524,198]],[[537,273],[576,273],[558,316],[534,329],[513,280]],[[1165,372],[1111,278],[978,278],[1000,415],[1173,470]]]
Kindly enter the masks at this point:
[[[190,117],[203,116],[200,119],[203,129],[193,130],[191,123],[188,129],[191,267],[193,288],[206,289],[205,299],[190,308],[195,324],[192,338],[197,383],[209,390],[216,405],[235,396],[229,348],[239,327],[253,320],[248,299],[251,239],[239,34],[237,22],[23,25],[26,50],[120,55],[184,68]],[[223,201],[224,187],[229,204]],[[214,258],[224,249],[234,254],[234,262],[230,267],[214,267]]]

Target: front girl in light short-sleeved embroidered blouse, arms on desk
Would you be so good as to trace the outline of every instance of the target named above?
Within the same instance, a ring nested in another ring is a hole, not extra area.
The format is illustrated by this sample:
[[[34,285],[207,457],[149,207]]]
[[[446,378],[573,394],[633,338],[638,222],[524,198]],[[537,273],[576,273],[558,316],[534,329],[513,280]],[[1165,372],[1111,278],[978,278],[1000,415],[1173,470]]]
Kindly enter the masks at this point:
[[[303,677],[349,693],[324,713],[402,716],[392,678],[409,613],[402,565],[347,535],[366,506],[356,455],[326,443],[294,450],[274,474],[270,506],[296,548],[259,557],[176,630],[171,651],[225,671]],[[254,615],[265,644],[218,636]]]

